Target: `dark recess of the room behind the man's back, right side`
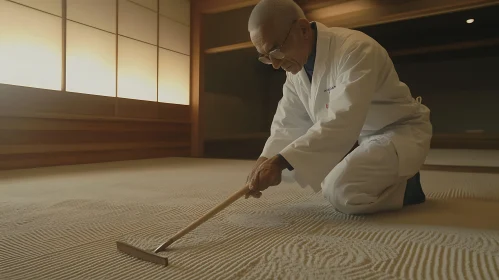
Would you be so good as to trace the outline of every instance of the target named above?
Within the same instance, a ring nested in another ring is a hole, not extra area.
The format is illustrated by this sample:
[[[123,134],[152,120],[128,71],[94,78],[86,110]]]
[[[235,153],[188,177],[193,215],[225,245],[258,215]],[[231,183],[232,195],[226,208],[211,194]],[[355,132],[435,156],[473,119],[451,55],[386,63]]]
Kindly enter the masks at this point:
[[[359,28],[389,52],[499,38],[499,6]],[[466,20],[473,18],[472,24]],[[499,47],[395,56],[400,79],[432,111],[435,133],[499,133]]]

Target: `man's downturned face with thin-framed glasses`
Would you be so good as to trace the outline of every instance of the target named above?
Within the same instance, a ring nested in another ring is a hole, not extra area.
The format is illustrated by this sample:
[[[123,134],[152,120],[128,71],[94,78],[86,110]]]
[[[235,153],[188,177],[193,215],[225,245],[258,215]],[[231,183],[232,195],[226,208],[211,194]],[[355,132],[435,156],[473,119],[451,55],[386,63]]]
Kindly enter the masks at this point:
[[[275,34],[273,28],[262,25],[250,32],[251,41],[260,55],[266,56],[272,62],[274,69],[282,68],[286,72],[297,74],[307,62],[307,46],[298,28],[298,23],[290,26],[289,30]],[[289,35],[288,35],[289,33]],[[269,55],[279,49],[284,58],[279,59]]]

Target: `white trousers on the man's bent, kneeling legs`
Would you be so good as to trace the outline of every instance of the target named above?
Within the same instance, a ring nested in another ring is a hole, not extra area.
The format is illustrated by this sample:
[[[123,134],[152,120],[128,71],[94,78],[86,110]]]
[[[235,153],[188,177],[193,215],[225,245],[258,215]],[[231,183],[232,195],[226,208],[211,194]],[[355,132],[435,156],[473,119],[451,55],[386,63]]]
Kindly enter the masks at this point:
[[[369,214],[403,207],[407,176],[389,137],[362,142],[326,176],[324,197],[345,214]]]

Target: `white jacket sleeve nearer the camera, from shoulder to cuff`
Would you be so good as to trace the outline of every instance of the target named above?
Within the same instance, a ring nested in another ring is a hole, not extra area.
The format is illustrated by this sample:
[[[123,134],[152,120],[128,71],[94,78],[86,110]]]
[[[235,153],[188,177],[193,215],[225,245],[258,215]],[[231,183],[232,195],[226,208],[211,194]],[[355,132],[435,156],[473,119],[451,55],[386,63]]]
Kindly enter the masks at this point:
[[[359,42],[342,52],[327,117],[281,151],[304,184],[320,188],[357,141],[383,64],[378,51],[370,42]]]

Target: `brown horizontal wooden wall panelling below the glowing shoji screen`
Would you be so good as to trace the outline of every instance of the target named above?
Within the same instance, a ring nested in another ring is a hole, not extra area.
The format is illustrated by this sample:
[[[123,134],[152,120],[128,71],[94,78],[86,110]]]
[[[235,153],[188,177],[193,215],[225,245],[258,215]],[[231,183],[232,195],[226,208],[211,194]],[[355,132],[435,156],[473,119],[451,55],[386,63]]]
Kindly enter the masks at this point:
[[[0,84],[0,169],[190,156],[190,106]]]

